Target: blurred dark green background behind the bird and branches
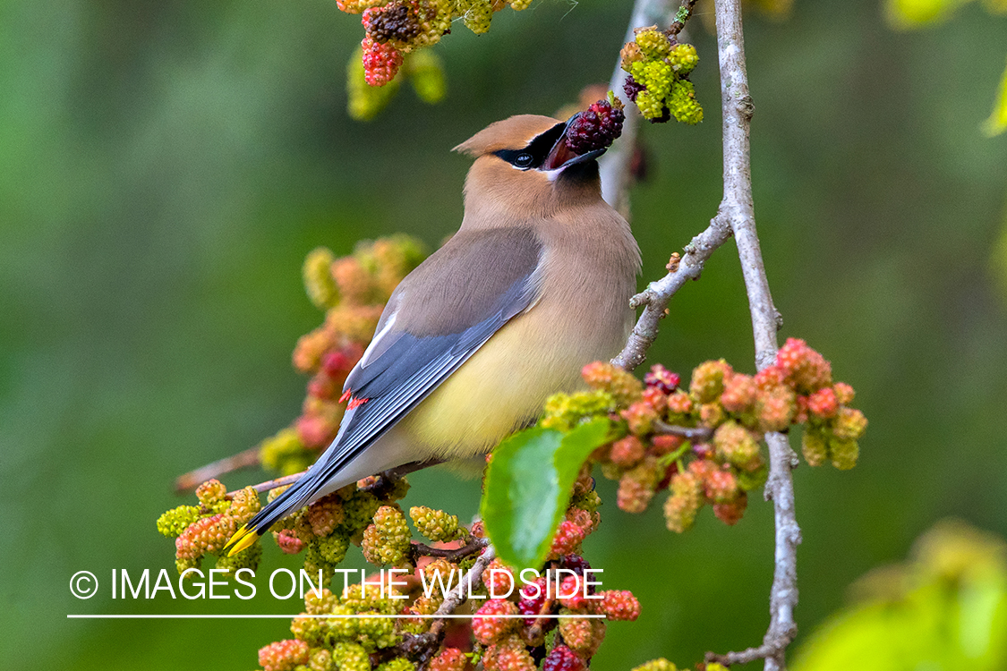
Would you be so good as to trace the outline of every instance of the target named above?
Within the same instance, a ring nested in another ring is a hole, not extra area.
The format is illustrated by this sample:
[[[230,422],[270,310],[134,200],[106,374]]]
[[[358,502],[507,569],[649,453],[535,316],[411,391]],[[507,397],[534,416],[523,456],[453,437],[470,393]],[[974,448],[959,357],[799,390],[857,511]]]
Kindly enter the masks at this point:
[[[320,320],[300,264],[319,244],[404,231],[436,245],[461,217],[487,123],[551,114],[611,73],[628,0],[537,0],[437,51],[449,95],[403,90],[349,121],[361,39],[331,0],[12,0],[0,4],[0,659],[7,669],[249,669],[276,621],[78,621],[67,613],[290,612],[112,601],[112,568],[173,571],[154,520],[175,476],[256,444],[298,411],[296,338]],[[702,0],[697,12],[712,11]],[[892,31],[877,0],[747,17],[755,208],[781,336],[806,338],[870,418],[852,472],[796,476],[807,637],[847,586],[903,558],[939,518],[1007,535],[1007,296],[994,276],[1007,136],[989,139],[1007,20],[965,7]],[[641,283],[720,197],[715,42],[698,25],[706,121],[643,129],[632,195]],[[1001,247],[1007,253],[1007,246]],[[1007,267],[1007,266],[1005,266]],[[652,361],[751,370],[732,243],[672,304]],[[243,485],[262,479],[245,473]],[[475,511],[477,481],[429,472],[407,503]],[[614,623],[594,668],[681,665],[761,640],[771,509],[674,535],[618,511],[587,543],[643,614]],[[262,569],[286,561],[268,547]],[[286,565],[295,565],[287,561]],[[69,576],[106,580],[73,599]],[[261,569],[261,570],[262,570]],[[260,590],[262,591],[262,590]]]

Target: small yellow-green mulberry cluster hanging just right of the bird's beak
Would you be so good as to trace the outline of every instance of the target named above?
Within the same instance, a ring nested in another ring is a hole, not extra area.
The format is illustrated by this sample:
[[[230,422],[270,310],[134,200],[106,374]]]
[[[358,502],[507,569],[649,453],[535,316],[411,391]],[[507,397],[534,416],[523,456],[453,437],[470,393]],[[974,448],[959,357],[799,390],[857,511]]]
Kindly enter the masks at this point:
[[[703,121],[703,108],[689,73],[699,62],[696,47],[681,44],[657,26],[639,28],[622,47],[623,92],[644,119],[663,123],[675,117],[686,124]]]

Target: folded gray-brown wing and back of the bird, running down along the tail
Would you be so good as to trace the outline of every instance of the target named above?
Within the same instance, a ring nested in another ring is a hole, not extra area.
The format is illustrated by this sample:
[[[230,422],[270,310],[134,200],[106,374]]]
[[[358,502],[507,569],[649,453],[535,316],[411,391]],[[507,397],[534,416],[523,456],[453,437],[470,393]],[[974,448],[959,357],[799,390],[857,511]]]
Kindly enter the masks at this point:
[[[253,518],[262,533],[312,495],[539,296],[542,243],[531,228],[460,231],[411,273],[346,377],[339,433],[295,485]]]

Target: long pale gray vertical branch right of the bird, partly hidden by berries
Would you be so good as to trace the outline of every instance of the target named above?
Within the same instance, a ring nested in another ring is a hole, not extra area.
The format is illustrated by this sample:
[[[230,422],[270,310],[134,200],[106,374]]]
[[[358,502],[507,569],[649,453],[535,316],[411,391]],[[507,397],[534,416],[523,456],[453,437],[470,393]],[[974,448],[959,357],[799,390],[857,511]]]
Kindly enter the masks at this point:
[[[714,12],[724,133],[724,199],[720,214],[726,218],[737,242],[751,313],[755,365],[761,370],[775,360],[780,317],[772,304],[755,230],[748,141],[753,108],[745,68],[740,0],[714,0]],[[719,659],[741,662],[764,658],[766,671],[781,671],[786,664],[786,647],[797,633],[794,609],[798,604],[797,547],[801,542],[801,529],[795,516],[790,472],[798,462],[785,436],[771,433],[766,434],[765,440],[769,446],[765,497],[772,500],[776,527],[769,627],[761,646],[742,653],[729,653]]]

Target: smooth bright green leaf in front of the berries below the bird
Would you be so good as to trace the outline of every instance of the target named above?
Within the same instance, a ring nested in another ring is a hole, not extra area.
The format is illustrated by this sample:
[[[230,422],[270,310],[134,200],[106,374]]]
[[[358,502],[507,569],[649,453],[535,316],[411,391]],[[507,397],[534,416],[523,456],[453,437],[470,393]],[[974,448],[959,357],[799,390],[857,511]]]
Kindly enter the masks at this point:
[[[564,435],[534,427],[493,451],[486,469],[482,521],[503,562],[538,567],[570,503],[584,460],[608,440],[611,423],[598,417]]]

